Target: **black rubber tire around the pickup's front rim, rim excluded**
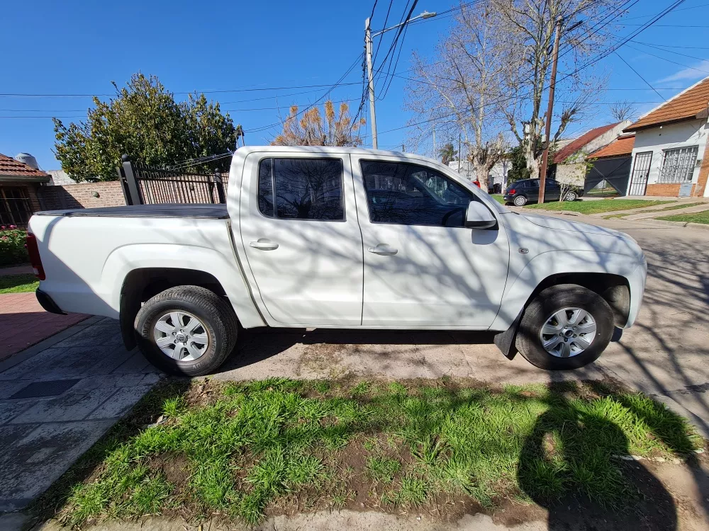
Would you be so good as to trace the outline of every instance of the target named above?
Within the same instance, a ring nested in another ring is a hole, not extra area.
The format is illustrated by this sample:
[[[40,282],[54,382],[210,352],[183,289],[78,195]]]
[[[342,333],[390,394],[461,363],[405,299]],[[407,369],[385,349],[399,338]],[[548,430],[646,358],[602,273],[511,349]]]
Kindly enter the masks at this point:
[[[586,310],[596,321],[596,336],[591,346],[569,358],[552,355],[542,346],[540,332],[549,316],[560,309],[575,307]],[[535,367],[546,370],[571,370],[594,362],[613,336],[613,310],[596,292],[576,284],[559,284],[540,292],[527,306],[520,321],[515,346]]]

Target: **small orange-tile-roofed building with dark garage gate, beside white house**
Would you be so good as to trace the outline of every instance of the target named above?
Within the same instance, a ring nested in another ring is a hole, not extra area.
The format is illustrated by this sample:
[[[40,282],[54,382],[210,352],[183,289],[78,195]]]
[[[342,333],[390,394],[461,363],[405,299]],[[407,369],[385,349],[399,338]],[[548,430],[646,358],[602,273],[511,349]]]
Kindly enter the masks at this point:
[[[586,195],[625,195],[635,133],[625,133],[586,156]]]

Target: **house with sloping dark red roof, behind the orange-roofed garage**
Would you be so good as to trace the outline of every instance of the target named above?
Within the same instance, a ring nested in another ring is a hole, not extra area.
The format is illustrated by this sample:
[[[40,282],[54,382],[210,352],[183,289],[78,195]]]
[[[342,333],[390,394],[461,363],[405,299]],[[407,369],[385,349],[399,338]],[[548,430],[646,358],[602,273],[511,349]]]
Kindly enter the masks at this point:
[[[630,120],[595,127],[562,147],[557,146],[549,176],[560,183],[584,186],[586,156],[613,142],[627,125],[630,125]]]

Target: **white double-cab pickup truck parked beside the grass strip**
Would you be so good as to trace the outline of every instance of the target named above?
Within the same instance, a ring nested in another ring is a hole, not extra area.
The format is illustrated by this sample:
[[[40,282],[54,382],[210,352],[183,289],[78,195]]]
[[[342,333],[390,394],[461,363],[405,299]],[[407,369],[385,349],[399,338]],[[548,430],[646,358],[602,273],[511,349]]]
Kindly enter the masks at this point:
[[[630,236],[510,212],[423,156],[243,147],[227,195],[38,212],[40,303],[120,319],[127,348],[205,375],[239,325],[496,331],[508,358],[573,369],[642,301],[647,265]]]

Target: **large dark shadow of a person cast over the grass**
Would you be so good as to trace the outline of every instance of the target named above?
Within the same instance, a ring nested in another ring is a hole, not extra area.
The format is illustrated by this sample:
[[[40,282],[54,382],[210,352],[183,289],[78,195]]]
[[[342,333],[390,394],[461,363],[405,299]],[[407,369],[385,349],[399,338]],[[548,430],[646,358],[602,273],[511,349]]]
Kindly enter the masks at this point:
[[[609,396],[603,384],[588,385],[643,421],[650,420],[633,407],[627,398],[630,395]],[[549,530],[677,529],[677,510],[669,491],[642,462],[619,457],[632,454],[627,436],[608,420],[613,415],[602,415],[574,401],[571,391],[575,388],[573,382],[552,384],[557,392],[549,393],[545,400],[549,409],[537,418],[520,453],[518,484],[547,510]],[[671,413],[668,417],[681,423]],[[622,422],[622,416],[617,418]],[[652,422],[649,426],[671,450],[684,453],[691,449],[687,438],[676,440],[678,430],[664,426],[658,432]]]

